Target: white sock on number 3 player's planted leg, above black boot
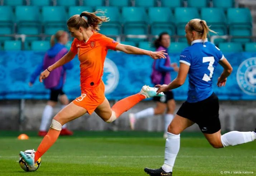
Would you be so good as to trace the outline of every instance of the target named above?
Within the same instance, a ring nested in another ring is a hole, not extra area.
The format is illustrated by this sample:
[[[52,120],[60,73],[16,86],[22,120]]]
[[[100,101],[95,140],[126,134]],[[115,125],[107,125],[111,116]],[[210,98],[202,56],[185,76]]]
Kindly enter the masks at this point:
[[[172,172],[175,159],[179,152],[180,146],[180,134],[174,135],[167,132],[168,138],[165,143],[165,152],[164,152],[164,165],[162,166],[165,172]]]

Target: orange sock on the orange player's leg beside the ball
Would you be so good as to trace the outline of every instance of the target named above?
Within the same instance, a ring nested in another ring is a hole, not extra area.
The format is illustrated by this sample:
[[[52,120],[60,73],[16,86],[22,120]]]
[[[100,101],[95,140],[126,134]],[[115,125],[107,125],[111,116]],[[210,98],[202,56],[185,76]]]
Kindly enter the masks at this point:
[[[47,135],[44,136],[42,142],[40,143],[37,151],[35,152],[35,162],[54,144],[58,139],[59,133],[56,129],[50,128]]]

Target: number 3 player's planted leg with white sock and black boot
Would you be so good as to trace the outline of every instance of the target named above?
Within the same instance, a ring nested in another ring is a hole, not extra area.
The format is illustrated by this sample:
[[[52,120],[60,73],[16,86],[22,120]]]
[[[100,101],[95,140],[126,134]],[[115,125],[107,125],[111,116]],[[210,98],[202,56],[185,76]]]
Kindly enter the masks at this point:
[[[159,169],[145,168],[144,171],[151,176],[172,176],[174,162],[180,148],[180,133],[193,124],[193,121],[176,115],[168,126],[168,138],[165,142],[164,165]]]

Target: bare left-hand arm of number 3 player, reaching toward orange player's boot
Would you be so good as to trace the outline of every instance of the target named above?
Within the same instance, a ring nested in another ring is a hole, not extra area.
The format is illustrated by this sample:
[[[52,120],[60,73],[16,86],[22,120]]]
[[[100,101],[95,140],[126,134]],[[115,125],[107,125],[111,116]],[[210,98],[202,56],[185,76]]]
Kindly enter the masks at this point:
[[[187,78],[189,65],[180,63],[179,72],[177,75],[177,78],[175,78],[170,84],[168,85],[156,85],[155,87],[158,87],[158,90],[156,91],[157,94],[160,92],[167,92],[172,89],[176,89],[180,86],[182,86]]]

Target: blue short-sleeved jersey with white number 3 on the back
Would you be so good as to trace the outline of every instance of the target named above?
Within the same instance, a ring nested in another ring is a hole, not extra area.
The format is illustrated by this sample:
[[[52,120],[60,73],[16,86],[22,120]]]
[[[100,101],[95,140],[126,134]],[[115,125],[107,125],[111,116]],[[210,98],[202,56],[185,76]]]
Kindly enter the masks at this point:
[[[180,63],[189,65],[188,99],[189,103],[202,101],[213,93],[212,76],[219,60],[224,59],[222,52],[205,40],[194,40],[180,55]]]

